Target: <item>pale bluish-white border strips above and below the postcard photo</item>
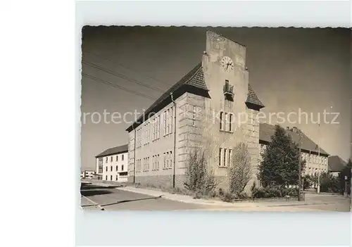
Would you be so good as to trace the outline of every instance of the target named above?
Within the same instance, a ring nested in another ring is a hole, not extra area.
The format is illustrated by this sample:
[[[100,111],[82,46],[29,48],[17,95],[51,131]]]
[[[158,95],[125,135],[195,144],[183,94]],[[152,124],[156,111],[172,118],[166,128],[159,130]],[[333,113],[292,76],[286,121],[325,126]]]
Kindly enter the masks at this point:
[[[83,25],[351,27],[348,1],[113,1],[76,7],[77,32]],[[80,44],[77,48],[80,53]],[[76,220],[79,245],[351,243],[348,213],[79,211]]]

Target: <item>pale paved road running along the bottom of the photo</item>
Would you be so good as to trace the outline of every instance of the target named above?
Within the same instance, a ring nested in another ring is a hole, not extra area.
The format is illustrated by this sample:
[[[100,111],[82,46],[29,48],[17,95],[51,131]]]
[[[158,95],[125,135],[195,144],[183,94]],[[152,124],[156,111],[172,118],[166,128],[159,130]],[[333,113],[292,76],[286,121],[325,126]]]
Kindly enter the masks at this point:
[[[147,196],[144,194],[123,191],[117,186],[99,186],[82,184],[81,205],[84,210],[100,210],[94,203],[102,205],[104,210],[236,210],[236,211],[271,211],[271,212],[298,212],[298,211],[339,211],[350,210],[349,198],[340,195],[306,194],[306,203],[310,205],[277,206],[275,203],[250,203],[251,207],[238,207],[236,203],[229,206],[201,205],[196,203],[182,203],[165,198]],[[256,207],[253,207],[256,205]]]

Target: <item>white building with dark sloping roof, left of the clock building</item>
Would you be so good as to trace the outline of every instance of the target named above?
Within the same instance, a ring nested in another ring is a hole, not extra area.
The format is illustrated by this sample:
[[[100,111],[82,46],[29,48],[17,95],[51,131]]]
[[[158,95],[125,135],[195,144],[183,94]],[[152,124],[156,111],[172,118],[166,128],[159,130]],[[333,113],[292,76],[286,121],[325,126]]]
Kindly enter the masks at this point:
[[[96,174],[103,180],[127,182],[128,145],[108,148],[96,158]]]

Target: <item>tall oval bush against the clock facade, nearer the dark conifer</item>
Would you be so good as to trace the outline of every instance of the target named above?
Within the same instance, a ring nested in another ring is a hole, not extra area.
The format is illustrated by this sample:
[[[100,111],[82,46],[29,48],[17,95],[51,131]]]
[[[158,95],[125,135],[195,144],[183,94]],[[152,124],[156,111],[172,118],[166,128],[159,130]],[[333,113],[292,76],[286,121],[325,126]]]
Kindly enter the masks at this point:
[[[230,193],[238,197],[251,179],[251,157],[248,146],[244,142],[240,142],[232,150],[228,176]]]

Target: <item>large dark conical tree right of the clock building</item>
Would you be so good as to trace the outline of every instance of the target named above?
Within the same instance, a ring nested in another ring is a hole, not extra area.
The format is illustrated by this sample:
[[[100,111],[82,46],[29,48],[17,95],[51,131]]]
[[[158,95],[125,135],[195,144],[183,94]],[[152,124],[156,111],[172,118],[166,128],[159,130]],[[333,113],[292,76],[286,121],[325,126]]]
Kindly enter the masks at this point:
[[[275,126],[270,144],[265,149],[263,161],[259,165],[259,179],[263,186],[285,186],[298,184],[298,144],[292,141],[285,130]],[[301,162],[304,170],[306,162]]]

